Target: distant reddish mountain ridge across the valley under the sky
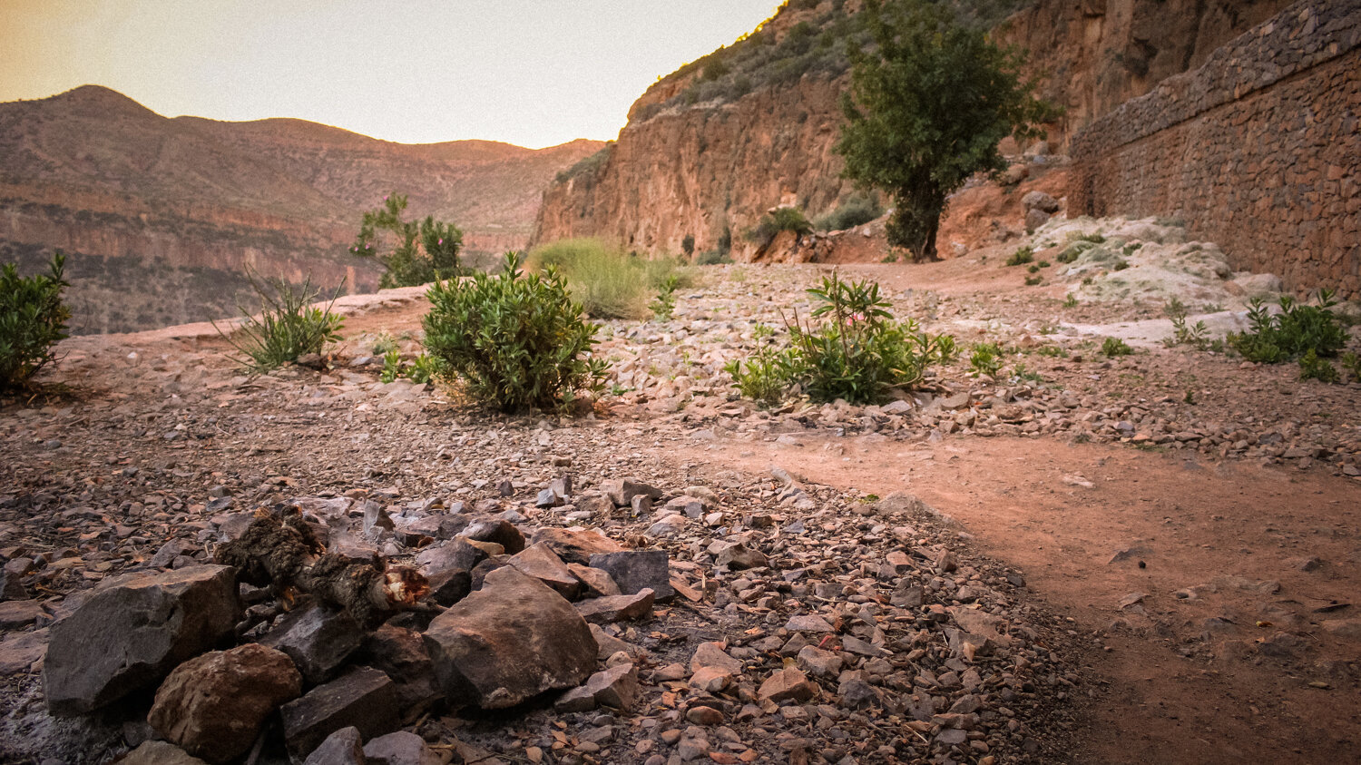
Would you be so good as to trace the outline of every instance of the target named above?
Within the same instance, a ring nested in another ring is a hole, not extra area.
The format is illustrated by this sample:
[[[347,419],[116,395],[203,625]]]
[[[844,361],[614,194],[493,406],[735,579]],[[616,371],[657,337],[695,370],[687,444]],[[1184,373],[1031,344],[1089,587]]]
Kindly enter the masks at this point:
[[[0,103],[0,261],[71,255],[79,332],[229,316],[242,270],[373,289],[346,255],[385,193],[464,230],[470,253],[523,248],[542,189],[597,151],[486,140],[400,144],[304,120],[167,118],[84,86]]]

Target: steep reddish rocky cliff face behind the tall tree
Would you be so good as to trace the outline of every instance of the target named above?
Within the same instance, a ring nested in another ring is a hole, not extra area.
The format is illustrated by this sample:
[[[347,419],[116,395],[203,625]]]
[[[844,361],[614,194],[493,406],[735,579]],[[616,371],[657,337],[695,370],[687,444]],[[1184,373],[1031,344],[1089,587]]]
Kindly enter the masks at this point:
[[[995,34],[1032,52],[1040,90],[1067,109],[1051,136],[1062,150],[1070,131],[1198,65],[1286,4],[1037,0]],[[701,60],[663,78],[630,109],[618,142],[544,192],[534,241],[592,235],[638,252],[676,253],[687,234],[704,252],[717,249],[728,231],[734,257],[743,260],[755,252],[742,233],[770,207],[796,204],[810,218],[836,207],[852,189],[832,151],[848,78],[844,60],[818,52],[823,39],[853,30],[845,19],[856,8],[787,3],[753,34],[765,45],[759,54],[750,54],[751,41],[739,41],[710,56],[749,54],[740,60],[759,61],[750,72],[712,76],[721,68],[710,71],[710,60]],[[793,45],[800,35],[811,44]],[[784,76],[791,68],[802,76]],[[757,84],[743,87],[750,83]]]

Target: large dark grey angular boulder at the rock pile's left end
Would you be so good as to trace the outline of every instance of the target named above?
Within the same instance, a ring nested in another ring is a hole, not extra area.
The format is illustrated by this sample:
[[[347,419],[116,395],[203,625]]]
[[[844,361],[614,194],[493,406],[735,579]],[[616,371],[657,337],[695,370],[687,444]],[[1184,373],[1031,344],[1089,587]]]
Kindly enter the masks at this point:
[[[235,569],[191,566],[105,581],[52,626],[42,685],[53,715],[83,715],[155,686],[231,636]]]

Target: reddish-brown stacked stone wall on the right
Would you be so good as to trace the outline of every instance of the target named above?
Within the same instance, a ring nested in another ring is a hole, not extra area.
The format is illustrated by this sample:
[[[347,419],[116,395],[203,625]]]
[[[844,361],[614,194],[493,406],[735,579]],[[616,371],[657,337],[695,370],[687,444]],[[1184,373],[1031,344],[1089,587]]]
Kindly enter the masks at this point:
[[[1361,0],[1304,0],[1072,140],[1068,214],[1168,215],[1361,298]]]

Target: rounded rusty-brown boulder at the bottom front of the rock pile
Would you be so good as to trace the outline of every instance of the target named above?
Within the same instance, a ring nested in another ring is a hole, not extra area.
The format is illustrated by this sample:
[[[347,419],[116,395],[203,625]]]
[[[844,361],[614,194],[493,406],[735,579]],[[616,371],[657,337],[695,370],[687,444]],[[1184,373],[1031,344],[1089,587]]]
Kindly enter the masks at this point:
[[[289,656],[248,642],[176,667],[147,720],[189,754],[225,764],[245,754],[269,715],[299,693],[302,675]]]

